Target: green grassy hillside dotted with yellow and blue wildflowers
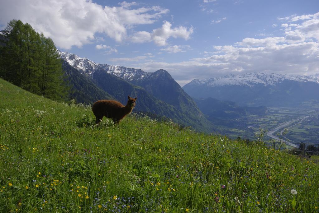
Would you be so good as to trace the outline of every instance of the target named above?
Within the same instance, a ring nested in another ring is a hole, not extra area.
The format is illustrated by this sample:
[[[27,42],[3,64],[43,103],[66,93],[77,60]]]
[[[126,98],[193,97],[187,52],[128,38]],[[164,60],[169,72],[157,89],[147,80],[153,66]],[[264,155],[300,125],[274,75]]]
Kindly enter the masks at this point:
[[[318,212],[312,162],[147,117],[93,120],[0,80],[0,212]]]

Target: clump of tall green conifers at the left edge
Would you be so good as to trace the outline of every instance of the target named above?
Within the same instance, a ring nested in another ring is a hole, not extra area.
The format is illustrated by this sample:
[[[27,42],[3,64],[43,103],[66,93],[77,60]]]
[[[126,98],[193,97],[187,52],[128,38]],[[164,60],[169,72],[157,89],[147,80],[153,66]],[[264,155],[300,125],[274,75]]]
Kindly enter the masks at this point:
[[[3,32],[0,53],[0,77],[35,94],[65,99],[62,62],[52,39],[28,23],[11,20]]]

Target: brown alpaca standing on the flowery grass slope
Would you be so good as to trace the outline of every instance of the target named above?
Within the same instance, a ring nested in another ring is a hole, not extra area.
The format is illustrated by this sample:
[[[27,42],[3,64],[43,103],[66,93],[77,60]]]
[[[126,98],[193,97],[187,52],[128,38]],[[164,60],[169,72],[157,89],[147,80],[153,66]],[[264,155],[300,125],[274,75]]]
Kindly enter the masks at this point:
[[[118,124],[120,120],[133,110],[136,99],[129,96],[126,106],[113,100],[99,100],[93,103],[92,111],[96,117],[95,123],[100,124],[100,120],[105,116],[112,118],[114,124]]]

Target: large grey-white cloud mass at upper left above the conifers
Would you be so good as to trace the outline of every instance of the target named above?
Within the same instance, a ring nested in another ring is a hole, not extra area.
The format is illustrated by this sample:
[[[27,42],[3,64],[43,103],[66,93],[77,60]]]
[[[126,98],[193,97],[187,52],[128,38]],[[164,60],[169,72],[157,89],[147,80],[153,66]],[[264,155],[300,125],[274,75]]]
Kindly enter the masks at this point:
[[[130,9],[135,2],[120,5],[102,7],[91,0],[5,1],[0,7],[0,24],[20,19],[52,38],[59,48],[70,49],[92,42],[98,32],[121,42],[127,38],[127,29],[152,24],[169,12],[158,6]]]

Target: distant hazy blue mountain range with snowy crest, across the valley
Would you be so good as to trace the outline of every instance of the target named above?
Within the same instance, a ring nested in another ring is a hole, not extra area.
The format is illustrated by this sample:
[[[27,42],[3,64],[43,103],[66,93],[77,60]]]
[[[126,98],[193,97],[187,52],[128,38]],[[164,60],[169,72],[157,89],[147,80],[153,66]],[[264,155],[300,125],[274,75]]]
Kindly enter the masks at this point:
[[[241,106],[302,107],[319,101],[319,78],[249,73],[194,79],[183,86],[193,98],[216,98]]]

